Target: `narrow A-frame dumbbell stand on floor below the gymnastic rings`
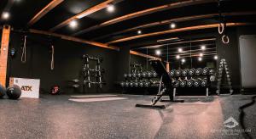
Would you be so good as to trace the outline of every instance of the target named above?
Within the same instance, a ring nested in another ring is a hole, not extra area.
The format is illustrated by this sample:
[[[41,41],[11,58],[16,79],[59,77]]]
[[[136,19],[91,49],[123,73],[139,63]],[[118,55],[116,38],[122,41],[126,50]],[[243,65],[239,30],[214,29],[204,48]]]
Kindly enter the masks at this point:
[[[220,60],[219,67],[218,67],[218,83],[217,83],[217,90],[216,90],[216,93],[218,95],[220,95],[220,86],[222,83],[222,76],[224,73],[225,73],[226,79],[228,81],[228,86],[229,86],[230,95],[231,95],[233,93],[233,89],[231,86],[232,83],[231,83],[231,79],[230,79],[230,71],[229,71],[228,64],[227,64],[226,60],[223,58]]]

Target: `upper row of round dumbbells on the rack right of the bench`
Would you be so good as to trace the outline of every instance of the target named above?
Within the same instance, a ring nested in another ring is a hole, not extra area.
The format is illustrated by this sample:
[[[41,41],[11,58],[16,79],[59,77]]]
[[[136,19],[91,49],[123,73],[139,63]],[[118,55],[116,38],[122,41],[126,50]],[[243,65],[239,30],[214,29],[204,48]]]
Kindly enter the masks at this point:
[[[209,68],[198,68],[198,69],[173,69],[170,71],[169,75],[171,77],[180,77],[180,76],[194,76],[194,75],[214,75],[215,70]]]

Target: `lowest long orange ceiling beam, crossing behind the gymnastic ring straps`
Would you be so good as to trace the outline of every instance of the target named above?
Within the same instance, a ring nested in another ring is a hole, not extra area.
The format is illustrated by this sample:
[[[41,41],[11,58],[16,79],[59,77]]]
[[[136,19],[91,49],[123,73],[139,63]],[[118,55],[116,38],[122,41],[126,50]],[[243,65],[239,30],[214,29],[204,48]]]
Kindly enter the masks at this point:
[[[238,26],[238,25],[253,25],[250,23],[227,23],[227,26]],[[195,25],[195,26],[189,26],[189,27],[183,27],[179,29],[173,29],[173,30],[167,30],[167,31],[158,31],[158,32],[152,32],[148,34],[143,34],[143,35],[137,35],[137,36],[128,36],[122,39],[114,40],[112,42],[108,42],[107,44],[113,44],[113,43],[118,43],[118,42],[127,42],[143,37],[148,37],[148,36],[159,36],[159,35],[164,35],[164,34],[169,34],[169,33],[176,33],[176,32],[183,32],[183,31],[195,31],[195,30],[202,30],[202,29],[210,29],[210,28],[217,28],[218,24],[211,24],[211,25]]]

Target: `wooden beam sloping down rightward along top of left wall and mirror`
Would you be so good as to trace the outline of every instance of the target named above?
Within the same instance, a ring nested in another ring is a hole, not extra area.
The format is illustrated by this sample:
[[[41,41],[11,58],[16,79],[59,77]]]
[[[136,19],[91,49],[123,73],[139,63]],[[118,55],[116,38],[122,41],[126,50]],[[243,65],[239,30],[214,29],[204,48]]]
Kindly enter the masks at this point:
[[[63,40],[67,40],[67,41],[80,42],[80,43],[84,43],[84,44],[90,44],[91,46],[104,47],[104,48],[119,51],[119,47],[108,46],[107,44],[100,43],[100,42],[91,42],[91,41],[87,41],[87,40],[80,39],[80,38],[73,37],[73,36],[66,36],[66,35],[61,35],[61,34],[49,32],[49,31],[39,31],[39,30],[34,30],[34,29],[30,29],[29,32],[35,33],[35,34],[40,34],[40,35],[45,35],[45,36],[55,36],[55,37],[59,37]],[[160,59],[160,58],[148,55],[148,54],[138,53],[136,51],[130,51],[130,54],[134,54],[134,55],[144,57],[144,58]]]

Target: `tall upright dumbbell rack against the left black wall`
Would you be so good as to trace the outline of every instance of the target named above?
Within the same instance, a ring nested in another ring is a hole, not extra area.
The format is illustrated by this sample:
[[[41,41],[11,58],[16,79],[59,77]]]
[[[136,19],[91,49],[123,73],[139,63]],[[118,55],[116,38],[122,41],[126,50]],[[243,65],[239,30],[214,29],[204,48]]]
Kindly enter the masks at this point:
[[[88,86],[89,88],[91,85],[98,85],[102,88],[102,85],[106,84],[102,81],[102,72],[104,71],[101,69],[102,58],[97,57],[90,57],[89,55],[83,55],[84,59],[84,68],[83,68],[83,76],[84,76],[84,86]],[[96,62],[95,69],[90,69],[89,63],[90,61]],[[95,78],[95,81],[91,81],[91,77]]]

